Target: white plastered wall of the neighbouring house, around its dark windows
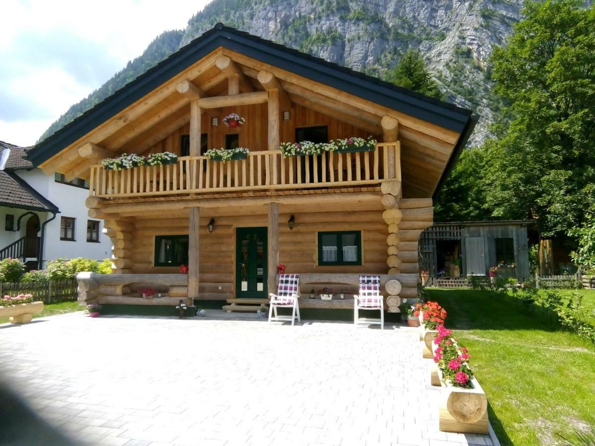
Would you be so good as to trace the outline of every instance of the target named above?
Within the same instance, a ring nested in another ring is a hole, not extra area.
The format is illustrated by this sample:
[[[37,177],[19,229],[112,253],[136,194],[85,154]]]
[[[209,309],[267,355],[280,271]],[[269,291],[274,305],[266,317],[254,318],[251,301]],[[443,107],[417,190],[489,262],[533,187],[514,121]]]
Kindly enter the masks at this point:
[[[87,257],[97,260],[111,257],[112,244],[109,237],[102,233],[103,221],[99,221],[99,243],[87,241],[87,221],[90,218],[87,216],[84,200],[89,196],[88,189],[58,183],[54,175],[46,175],[40,169],[21,170],[17,171],[17,174],[60,209],[56,218],[46,225],[43,266],[47,260],[57,257]],[[74,241],[60,240],[62,216],[75,219]],[[40,222],[43,224],[47,218],[51,218],[51,213],[48,212],[47,216],[40,215]]]

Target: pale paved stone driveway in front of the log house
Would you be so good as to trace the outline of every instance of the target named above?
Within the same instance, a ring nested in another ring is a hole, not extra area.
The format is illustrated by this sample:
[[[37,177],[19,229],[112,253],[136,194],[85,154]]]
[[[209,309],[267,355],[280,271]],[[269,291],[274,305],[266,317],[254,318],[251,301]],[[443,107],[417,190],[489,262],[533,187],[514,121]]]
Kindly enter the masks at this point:
[[[438,431],[417,331],[389,326],[71,313],[0,326],[0,376],[80,444],[491,445]]]

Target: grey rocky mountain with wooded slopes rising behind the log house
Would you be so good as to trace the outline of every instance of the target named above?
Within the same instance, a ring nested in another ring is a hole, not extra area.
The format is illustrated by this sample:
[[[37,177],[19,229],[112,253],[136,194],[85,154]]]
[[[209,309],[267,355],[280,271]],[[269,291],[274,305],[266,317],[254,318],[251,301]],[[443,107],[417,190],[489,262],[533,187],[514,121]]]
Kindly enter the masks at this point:
[[[469,145],[489,136],[502,107],[491,94],[488,57],[520,20],[523,0],[215,0],[185,30],[161,34],[96,92],[43,134],[68,121],[189,43],[217,22],[383,77],[409,48],[419,49],[446,100],[480,115]]]

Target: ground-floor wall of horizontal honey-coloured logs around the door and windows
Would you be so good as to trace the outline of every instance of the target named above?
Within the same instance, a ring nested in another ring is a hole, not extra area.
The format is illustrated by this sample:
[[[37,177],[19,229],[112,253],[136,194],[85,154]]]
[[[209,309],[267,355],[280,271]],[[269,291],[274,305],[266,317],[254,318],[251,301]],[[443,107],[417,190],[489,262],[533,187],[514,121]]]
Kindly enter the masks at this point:
[[[403,209],[405,228],[397,233],[389,233],[398,237],[397,244],[390,246],[398,249],[397,259],[400,271],[390,274],[405,273],[407,279],[399,281],[402,289],[399,297],[417,296],[417,243],[419,234],[431,224],[431,207],[427,200],[400,200]],[[268,208],[263,208],[266,211]],[[334,206],[333,209],[339,209]],[[290,230],[287,225],[291,215],[295,215],[295,226]],[[235,283],[235,250],[236,227],[267,227],[267,215],[215,215],[213,233],[209,233],[207,225],[212,215],[202,215],[199,224],[199,299],[224,300],[233,297]],[[421,221],[419,219],[422,219]],[[131,244],[130,258],[133,261],[131,272],[135,274],[177,273],[179,267],[155,267],[155,236],[188,234],[189,220],[185,216],[173,218],[136,218],[134,220],[134,239]],[[319,231],[362,231],[362,265],[358,266],[319,266],[318,265],[318,232]],[[278,218],[279,255],[278,262],[286,266],[286,272],[299,274],[389,274],[387,265],[387,225],[383,219],[383,211],[362,211],[347,209],[345,211],[328,209],[328,212],[286,212],[281,207]],[[390,247],[389,247],[390,249]],[[404,268],[403,268],[404,266]],[[394,268],[394,267],[393,267]],[[405,270],[405,271],[403,271]],[[324,284],[311,285],[307,290],[302,286],[302,293],[309,293],[310,288],[316,290]],[[220,289],[221,287],[221,289]],[[336,289],[335,289],[336,288]],[[336,293],[341,289],[345,294],[355,294],[357,287],[333,287]],[[392,299],[393,306],[398,306]],[[396,311],[396,310],[395,310]]]

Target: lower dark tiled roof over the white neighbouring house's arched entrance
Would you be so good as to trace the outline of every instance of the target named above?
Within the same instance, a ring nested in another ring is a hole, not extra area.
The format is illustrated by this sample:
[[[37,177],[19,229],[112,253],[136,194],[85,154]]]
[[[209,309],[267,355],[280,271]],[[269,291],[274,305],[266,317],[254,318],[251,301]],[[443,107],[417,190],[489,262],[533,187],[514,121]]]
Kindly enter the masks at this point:
[[[54,203],[29,186],[15,172],[10,171],[0,171],[0,206],[59,212]]]

